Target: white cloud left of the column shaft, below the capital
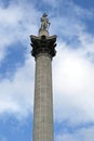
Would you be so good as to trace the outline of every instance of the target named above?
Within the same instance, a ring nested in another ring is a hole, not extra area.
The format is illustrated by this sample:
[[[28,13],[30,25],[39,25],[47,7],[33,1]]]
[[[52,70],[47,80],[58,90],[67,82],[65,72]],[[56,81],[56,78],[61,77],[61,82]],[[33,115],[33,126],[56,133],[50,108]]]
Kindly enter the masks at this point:
[[[17,68],[13,79],[0,81],[0,114],[13,113],[19,118],[32,112],[33,75],[33,62],[29,57],[25,66]]]

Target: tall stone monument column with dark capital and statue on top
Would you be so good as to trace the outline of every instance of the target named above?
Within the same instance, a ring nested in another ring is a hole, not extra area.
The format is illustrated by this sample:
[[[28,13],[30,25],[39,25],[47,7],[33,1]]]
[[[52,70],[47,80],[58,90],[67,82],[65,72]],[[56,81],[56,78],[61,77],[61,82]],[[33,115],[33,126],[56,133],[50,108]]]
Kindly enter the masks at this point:
[[[30,36],[36,61],[32,141],[54,141],[52,59],[56,54],[56,36],[49,35],[49,26],[44,13],[38,36]]]

